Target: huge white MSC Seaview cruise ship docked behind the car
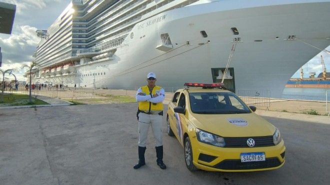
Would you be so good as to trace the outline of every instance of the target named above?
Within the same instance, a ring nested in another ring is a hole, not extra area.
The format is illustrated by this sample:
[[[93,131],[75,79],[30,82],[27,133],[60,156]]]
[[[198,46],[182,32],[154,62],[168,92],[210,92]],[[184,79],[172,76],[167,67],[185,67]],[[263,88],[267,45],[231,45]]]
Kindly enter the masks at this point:
[[[36,31],[32,82],[134,89],[152,71],[162,87],[223,81],[281,97],[330,45],[329,9],[330,0],[70,0]]]

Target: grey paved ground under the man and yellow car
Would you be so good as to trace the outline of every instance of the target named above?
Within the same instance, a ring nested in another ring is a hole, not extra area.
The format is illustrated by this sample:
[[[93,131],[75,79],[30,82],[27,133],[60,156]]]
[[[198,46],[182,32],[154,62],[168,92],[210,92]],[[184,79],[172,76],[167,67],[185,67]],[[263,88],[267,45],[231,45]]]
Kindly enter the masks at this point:
[[[279,128],[287,149],[279,169],[190,172],[183,147],[166,134],[165,116],[167,169],[156,165],[151,130],[146,165],[133,169],[136,107],[120,103],[1,109],[0,184],[328,184],[330,124],[276,116],[264,118]]]

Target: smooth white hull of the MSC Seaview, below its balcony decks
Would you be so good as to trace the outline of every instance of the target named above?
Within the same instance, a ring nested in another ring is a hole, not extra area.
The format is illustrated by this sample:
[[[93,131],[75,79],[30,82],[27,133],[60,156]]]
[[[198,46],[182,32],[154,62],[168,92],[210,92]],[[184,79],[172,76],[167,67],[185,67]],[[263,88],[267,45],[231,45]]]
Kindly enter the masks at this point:
[[[68,86],[131,89],[146,84],[146,74],[153,71],[163,87],[212,83],[221,81],[218,71],[232,54],[225,86],[235,92],[265,89],[271,97],[281,97],[292,74],[320,52],[317,48],[330,45],[330,1],[280,2],[221,0],[165,11],[135,24],[112,56],[80,62],[71,66],[71,74],[44,79]],[[239,34],[233,34],[232,27]],[[168,33],[172,48],[159,46],[163,33]]]

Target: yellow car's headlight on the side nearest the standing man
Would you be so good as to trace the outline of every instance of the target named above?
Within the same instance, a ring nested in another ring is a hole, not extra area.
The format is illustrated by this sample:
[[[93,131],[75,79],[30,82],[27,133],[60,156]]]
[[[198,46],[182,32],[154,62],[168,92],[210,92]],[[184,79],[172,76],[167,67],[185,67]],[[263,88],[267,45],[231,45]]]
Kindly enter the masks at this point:
[[[224,138],[200,129],[196,129],[197,139],[200,142],[211,144],[213,146],[224,147]]]

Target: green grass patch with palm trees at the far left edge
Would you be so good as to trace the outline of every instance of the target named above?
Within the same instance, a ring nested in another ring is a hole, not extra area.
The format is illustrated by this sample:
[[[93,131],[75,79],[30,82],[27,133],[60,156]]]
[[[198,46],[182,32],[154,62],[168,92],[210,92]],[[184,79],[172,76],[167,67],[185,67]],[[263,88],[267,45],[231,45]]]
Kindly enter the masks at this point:
[[[0,106],[22,106],[22,105],[40,105],[49,104],[32,96],[32,102],[29,102],[29,95],[26,94],[0,94]]]

